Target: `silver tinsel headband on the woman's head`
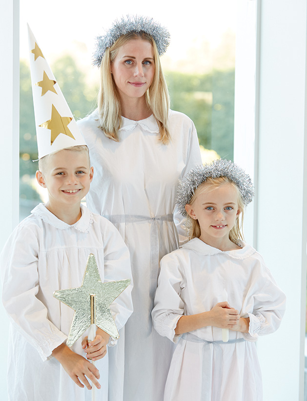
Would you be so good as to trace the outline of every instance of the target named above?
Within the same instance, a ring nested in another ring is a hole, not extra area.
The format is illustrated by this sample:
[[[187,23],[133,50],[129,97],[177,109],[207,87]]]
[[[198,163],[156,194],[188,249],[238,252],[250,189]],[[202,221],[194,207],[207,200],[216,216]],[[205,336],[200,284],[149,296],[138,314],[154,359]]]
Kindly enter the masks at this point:
[[[93,64],[99,67],[105,50],[111,47],[121,36],[131,32],[144,32],[150,35],[156,42],[159,56],[165,53],[169,45],[170,34],[164,26],[161,26],[158,22],[155,22],[149,17],[128,15],[126,18],[122,17],[121,20],[115,20],[104,36],[98,36],[96,38],[97,42],[96,50],[93,55]]]

